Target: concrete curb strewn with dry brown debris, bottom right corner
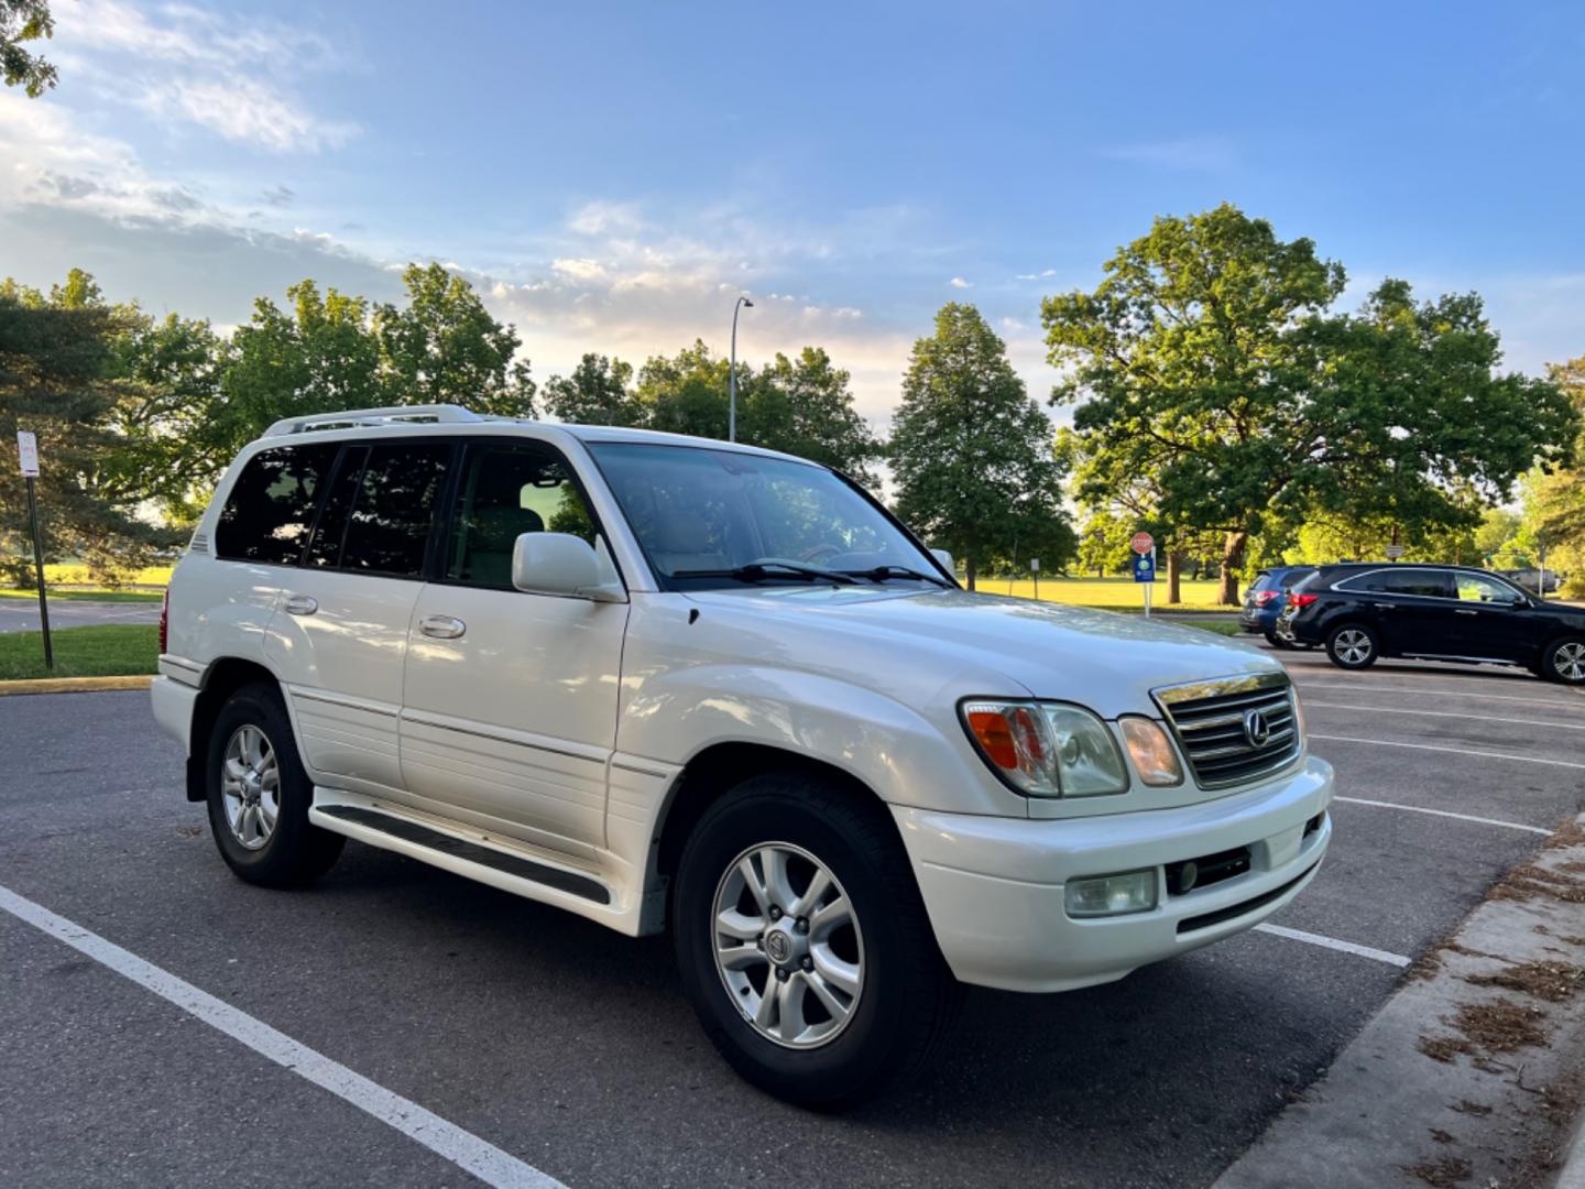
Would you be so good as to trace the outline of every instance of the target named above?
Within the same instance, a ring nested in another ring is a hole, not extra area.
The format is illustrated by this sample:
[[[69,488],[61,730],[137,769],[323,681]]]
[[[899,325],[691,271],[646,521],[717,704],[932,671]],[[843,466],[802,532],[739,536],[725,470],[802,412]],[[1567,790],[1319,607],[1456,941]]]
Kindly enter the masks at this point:
[[[1585,992],[1531,992],[1525,975],[1550,964],[1560,980],[1579,978],[1582,869],[1585,815],[1415,962],[1214,1189],[1533,1189],[1564,1162],[1556,1184],[1585,1189],[1571,1118],[1585,1100]]]

